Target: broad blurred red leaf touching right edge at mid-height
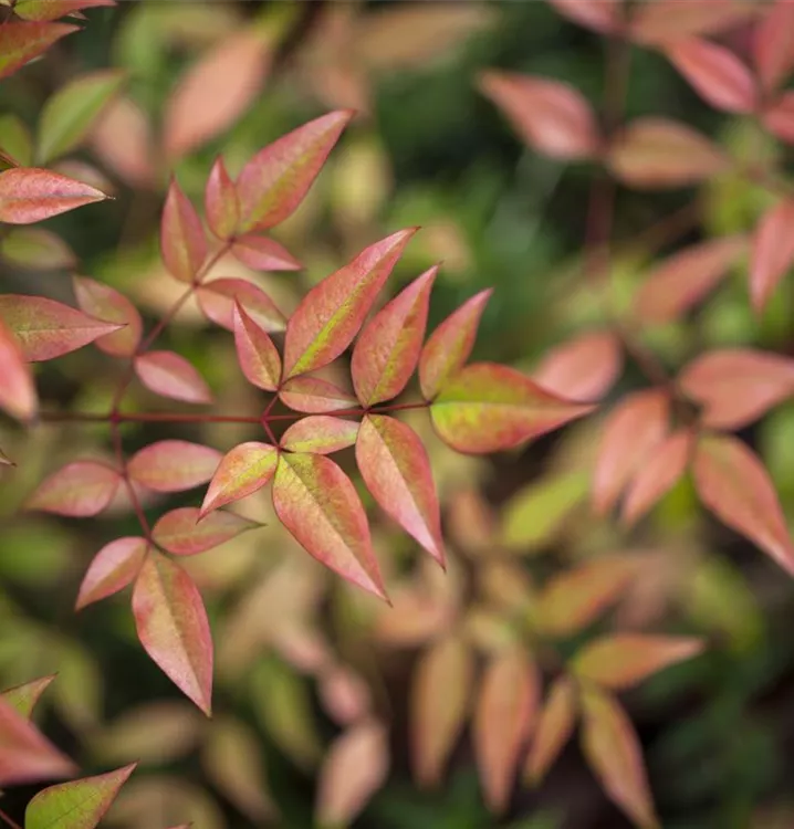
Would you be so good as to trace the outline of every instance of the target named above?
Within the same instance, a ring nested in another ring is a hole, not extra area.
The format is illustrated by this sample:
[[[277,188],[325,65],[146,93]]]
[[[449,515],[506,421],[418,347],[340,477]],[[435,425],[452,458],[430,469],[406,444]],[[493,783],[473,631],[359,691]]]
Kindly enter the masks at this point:
[[[678,382],[703,407],[704,426],[742,429],[794,396],[794,360],[752,348],[722,348],[696,357]]]

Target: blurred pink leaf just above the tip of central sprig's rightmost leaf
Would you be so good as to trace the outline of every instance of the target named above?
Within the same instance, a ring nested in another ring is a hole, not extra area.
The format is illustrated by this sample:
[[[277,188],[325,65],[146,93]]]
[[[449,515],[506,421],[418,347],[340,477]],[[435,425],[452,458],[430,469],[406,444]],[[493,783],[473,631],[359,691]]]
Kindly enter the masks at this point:
[[[544,389],[570,400],[598,400],[623,369],[620,340],[609,332],[585,334],[552,348],[532,372]]]

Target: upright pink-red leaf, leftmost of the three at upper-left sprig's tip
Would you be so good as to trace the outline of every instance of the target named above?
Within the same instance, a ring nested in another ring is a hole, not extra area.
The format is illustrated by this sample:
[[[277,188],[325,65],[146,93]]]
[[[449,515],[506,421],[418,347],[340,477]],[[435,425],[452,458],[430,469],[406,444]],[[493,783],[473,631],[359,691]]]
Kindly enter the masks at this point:
[[[180,282],[192,282],[207,259],[207,238],[196,208],[171,179],[160,222],[163,262]]]

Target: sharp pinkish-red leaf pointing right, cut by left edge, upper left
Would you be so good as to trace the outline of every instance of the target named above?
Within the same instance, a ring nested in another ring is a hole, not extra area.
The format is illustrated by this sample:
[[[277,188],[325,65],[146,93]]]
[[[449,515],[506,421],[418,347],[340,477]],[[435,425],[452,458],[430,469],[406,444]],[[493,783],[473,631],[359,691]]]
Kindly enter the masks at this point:
[[[0,222],[8,224],[32,224],[106,198],[96,188],[52,170],[13,167],[0,172]]]

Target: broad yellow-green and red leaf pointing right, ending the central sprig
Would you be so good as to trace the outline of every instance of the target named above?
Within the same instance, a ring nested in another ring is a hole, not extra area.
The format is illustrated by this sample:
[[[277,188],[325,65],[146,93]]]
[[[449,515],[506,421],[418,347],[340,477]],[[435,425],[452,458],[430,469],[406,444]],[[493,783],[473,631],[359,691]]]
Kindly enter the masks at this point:
[[[430,405],[433,428],[458,452],[488,454],[518,447],[587,414],[592,406],[542,389],[515,369],[474,363]]]

